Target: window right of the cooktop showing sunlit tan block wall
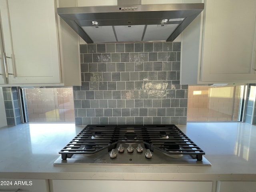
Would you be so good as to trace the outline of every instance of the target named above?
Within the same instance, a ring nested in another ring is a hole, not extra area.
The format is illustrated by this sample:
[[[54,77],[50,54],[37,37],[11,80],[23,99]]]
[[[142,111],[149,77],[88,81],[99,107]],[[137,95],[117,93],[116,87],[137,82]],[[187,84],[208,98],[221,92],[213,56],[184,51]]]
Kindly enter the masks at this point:
[[[188,121],[240,121],[245,85],[188,86]]]

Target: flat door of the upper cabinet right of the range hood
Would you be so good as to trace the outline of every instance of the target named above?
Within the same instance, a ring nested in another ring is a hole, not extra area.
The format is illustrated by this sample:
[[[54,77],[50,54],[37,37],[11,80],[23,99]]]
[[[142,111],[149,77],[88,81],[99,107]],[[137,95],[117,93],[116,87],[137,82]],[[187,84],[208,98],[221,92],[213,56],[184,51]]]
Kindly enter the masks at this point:
[[[255,81],[255,0],[206,0],[202,81]]]

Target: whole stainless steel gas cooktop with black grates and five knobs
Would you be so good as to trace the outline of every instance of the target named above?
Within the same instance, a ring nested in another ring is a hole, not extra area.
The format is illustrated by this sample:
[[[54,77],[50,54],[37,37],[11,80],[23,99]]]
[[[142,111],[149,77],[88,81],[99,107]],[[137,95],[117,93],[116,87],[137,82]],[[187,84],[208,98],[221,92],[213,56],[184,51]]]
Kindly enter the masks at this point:
[[[59,164],[210,166],[175,125],[88,125],[59,152]]]

